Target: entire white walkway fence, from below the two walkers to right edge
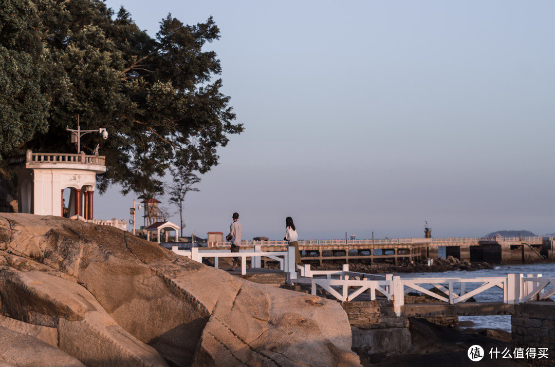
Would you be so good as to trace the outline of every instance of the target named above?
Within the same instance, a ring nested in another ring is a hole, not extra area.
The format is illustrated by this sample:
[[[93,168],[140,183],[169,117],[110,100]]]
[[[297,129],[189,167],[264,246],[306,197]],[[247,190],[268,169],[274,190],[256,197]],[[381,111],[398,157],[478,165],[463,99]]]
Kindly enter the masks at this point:
[[[287,273],[287,283],[310,284],[313,295],[316,295],[317,289],[321,288],[341,302],[348,302],[366,292],[370,300],[375,300],[378,293],[388,300],[393,300],[393,309],[397,315],[401,314],[401,307],[405,304],[405,294],[413,290],[448,304],[465,302],[490,288],[501,289],[502,302],[508,304],[543,300],[555,294],[555,278],[543,278],[542,274],[527,274],[527,277],[524,277],[524,274],[507,274],[506,277],[401,278],[393,274],[381,276],[350,272],[349,264],[345,264],[341,271],[313,271],[309,264],[296,266],[295,249],[292,247],[287,247],[287,251],[271,252],[261,251],[261,246],[255,246],[254,251],[241,250],[240,252],[203,250],[198,247],[179,250],[177,246],[171,249],[176,254],[197,262],[202,262],[203,258],[214,258],[215,268],[219,267],[220,257],[240,257],[243,275],[246,274],[247,258],[251,258],[251,268],[260,268],[261,258],[273,259],[278,261],[280,269]],[[300,270],[301,278],[297,278],[297,269]],[[442,293],[432,292],[432,288]]]

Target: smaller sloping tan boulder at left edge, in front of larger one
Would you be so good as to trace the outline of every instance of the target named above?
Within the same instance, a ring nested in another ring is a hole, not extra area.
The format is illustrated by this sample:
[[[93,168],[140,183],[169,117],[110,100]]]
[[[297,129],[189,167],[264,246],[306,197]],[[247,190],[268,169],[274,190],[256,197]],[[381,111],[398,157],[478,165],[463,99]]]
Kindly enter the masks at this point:
[[[3,312],[56,327],[59,348],[88,366],[165,366],[154,348],[123,330],[79,284],[40,271],[0,270]],[[86,348],[84,348],[86,346]]]

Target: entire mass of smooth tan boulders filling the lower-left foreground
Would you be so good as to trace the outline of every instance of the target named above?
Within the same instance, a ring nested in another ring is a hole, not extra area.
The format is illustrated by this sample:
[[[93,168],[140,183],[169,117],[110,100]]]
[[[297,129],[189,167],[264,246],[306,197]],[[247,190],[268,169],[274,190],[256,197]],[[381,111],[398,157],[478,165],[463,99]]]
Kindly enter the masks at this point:
[[[0,215],[0,314],[2,365],[360,365],[337,302],[59,217]]]

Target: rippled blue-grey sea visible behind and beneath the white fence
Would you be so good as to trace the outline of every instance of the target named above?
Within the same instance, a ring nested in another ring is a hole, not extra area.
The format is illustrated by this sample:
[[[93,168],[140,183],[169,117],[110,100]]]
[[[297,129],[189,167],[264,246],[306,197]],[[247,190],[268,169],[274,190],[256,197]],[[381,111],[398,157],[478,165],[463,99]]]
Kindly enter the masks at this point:
[[[438,278],[477,278],[477,277],[504,277],[507,274],[542,274],[543,277],[555,278],[555,263],[535,264],[511,264],[494,266],[493,269],[477,271],[447,271],[440,273],[398,273],[400,277],[438,277]],[[467,287],[467,292],[470,290]],[[476,302],[499,302],[503,300],[503,291],[498,287],[492,287],[474,296]],[[555,300],[555,295],[551,297]],[[474,323],[473,329],[502,329],[511,332],[511,315],[489,315],[489,316],[460,316],[458,320],[470,320]]]

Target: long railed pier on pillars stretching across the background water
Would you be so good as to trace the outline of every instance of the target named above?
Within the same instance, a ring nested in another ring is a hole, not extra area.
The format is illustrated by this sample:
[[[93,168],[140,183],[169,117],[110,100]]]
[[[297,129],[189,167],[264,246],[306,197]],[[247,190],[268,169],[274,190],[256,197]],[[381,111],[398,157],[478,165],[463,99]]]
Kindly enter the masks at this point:
[[[496,264],[555,261],[553,237],[461,237],[391,239],[310,239],[299,241],[302,262],[346,264],[362,262],[410,262],[437,259],[440,247],[445,255],[461,261]],[[286,241],[243,241],[241,248],[285,251]],[[209,249],[229,248],[229,242],[209,242]]]

